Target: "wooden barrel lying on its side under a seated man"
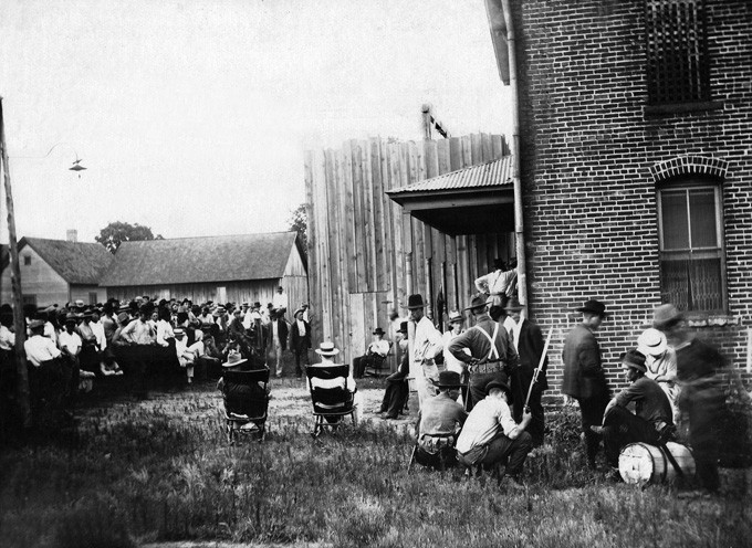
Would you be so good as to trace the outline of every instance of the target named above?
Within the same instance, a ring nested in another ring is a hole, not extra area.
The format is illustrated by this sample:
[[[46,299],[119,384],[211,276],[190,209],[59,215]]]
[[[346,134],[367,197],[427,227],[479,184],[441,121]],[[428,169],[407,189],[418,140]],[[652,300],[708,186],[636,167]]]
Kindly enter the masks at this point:
[[[694,475],[694,459],[688,447],[668,442],[666,447],[685,476]],[[647,443],[630,443],[619,455],[619,474],[625,483],[645,484],[671,482],[678,473],[664,450]]]

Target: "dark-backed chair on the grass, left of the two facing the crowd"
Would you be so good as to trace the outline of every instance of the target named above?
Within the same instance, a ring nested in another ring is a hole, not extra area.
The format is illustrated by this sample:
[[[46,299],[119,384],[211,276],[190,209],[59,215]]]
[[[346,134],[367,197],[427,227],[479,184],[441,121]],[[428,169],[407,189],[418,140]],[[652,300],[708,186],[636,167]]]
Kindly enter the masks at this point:
[[[269,369],[224,371],[222,378],[228,443],[233,444],[239,433],[253,434],[263,441],[269,409]]]

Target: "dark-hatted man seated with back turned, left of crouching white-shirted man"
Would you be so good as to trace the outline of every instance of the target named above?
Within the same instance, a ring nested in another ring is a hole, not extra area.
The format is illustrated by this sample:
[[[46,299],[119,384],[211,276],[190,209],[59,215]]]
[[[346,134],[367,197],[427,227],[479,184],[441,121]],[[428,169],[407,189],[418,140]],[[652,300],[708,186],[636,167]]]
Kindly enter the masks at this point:
[[[418,446],[415,461],[424,466],[445,468],[457,462],[455,442],[468,414],[457,403],[460,394],[460,375],[441,371],[434,382],[439,393],[424,400],[418,414]]]

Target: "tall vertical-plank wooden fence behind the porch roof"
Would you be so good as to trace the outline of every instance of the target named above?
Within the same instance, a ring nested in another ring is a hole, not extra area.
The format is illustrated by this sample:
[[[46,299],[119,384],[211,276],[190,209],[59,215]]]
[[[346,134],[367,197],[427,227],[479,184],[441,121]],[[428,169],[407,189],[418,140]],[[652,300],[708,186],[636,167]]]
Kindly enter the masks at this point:
[[[485,234],[450,236],[404,213],[385,192],[509,154],[503,136],[488,134],[418,143],[372,138],[307,151],[314,347],[332,340],[344,352],[341,361],[352,362],[375,327],[388,331],[391,308],[405,316],[410,292],[424,295],[430,314],[441,295],[442,322],[446,310],[466,306],[474,278],[490,272],[495,257],[514,254],[513,233],[489,226]]]

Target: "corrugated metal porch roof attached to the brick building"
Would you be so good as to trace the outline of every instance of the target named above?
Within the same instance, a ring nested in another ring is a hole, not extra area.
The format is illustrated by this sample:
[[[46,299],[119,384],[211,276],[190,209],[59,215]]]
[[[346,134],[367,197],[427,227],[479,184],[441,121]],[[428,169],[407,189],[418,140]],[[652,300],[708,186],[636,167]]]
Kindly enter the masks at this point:
[[[513,161],[511,156],[487,161],[478,166],[458,169],[449,173],[414,182],[407,187],[388,190],[388,194],[405,192],[436,192],[441,190],[501,187],[512,182]]]

